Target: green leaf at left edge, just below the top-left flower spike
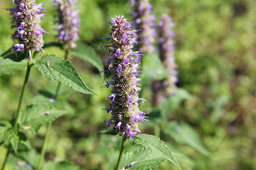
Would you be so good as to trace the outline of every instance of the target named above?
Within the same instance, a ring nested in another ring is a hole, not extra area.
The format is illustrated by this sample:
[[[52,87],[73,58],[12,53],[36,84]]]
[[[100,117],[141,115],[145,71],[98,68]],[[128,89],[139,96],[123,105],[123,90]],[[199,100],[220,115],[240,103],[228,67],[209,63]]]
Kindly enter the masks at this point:
[[[26,60],[21,62],[12,61],[9,58],[3,59],[0,57],[0,75],[1,74],[14,74],[17,70],[23,70],[27,66]]]

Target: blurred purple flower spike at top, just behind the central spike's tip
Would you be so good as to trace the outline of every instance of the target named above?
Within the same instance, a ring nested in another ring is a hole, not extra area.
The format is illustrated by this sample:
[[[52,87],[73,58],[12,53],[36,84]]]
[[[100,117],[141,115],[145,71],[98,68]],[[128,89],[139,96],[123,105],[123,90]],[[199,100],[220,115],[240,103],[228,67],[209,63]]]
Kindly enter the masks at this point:
[[[145,53],[154,51],[154,39],[157,36],[155,31],[155,16],[152,14],[152,5],[148,0],[130,0],[133,9],[132,17],[135,25],[142,29],[142,50]]]

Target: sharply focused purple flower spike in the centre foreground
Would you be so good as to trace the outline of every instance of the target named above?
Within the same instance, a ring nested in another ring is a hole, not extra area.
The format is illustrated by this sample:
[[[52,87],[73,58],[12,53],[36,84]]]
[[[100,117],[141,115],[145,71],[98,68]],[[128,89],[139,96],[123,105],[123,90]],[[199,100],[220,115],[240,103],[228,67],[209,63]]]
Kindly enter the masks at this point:
[[[110,17],[110,35],[105,38],[105,48],[109,51],[111,57],[108,59],[108,71],[112,73],[112,80],[107,81],[106,88],[113,85],[110,107],[105,108],[107,112],[112,111],[112,118],[106,121],[106,125],[113,126],[118,130],[120,136],[134,138],[134,135],[140,134],[138,125],[140,122],[147,121],[144,112],[139,110],[138,102],[145,102],[140,99],[137,87],[141,81],[139,74],[140,60],[143,54],[139,51],[132,51],[136,43],[137,31],[132,30],[131,23],[127,22],[123,15]],[[135,57],[134,57],[135,56]],[[147,113],[148,114],[148,113]]]

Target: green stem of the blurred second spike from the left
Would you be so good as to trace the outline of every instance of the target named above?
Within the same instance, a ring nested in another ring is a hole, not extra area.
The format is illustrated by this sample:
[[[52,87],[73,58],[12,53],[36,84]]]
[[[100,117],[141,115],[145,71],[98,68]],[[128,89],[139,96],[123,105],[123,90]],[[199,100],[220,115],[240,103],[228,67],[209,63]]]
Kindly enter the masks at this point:
[[[68,54],[68,50],[65,51],[64,59],[67,59],[67,54]],[[61,88],[61,82],[58,82],[56,92],[55,92],[55,96],[54,96],[55,99],[57,99],[58,91],[59,91],[60,88]],[[40,160],[39,160],[39,163],[38,163],[38,170],[41,170],[42,167],[43,167],[43,164],[44,164],[44,156],[45,156],[46,148],[47,148],[47,145],[48,145],[51,128],[52,128],[52,122],[50,122],[47,125],[47,130],[45,132],[45,137],[44,137],[44,144],[43,144],[43,147],[42,147],[42,150],[41,150]]]

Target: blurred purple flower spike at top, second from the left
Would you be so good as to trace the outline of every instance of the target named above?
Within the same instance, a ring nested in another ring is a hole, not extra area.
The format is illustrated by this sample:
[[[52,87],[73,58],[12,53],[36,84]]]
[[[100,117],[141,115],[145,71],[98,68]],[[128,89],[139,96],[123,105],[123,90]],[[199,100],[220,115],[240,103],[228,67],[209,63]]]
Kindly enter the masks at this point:
[[[79,40],[78,9],[74,4],[77,4],[76,0],[53,0],[53,6],[58,6],[58,39],[70,49],[75,48],[75,41]]]

